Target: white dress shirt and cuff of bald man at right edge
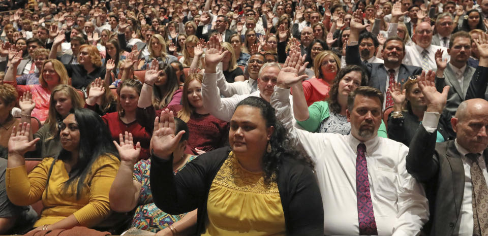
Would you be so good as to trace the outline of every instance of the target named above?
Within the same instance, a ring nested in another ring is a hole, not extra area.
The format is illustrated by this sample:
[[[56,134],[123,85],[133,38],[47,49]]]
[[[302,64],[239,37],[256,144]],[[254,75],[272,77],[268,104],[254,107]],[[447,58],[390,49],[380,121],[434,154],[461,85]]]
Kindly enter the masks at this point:
[[[429,114],[429,112],[425,112],[423,116],[423,120],[425,119],[431,119],[429,116],[431,116],[432,113]],[[425,130],[427,132],[434,132],[437,130],[437,124],[438,124],[439,118],[437,118],[437,122],[434,123],[425,123],[422,122],[422,125],[425,127]],[[472,200],[472,192],[473,192],[473,183],[471,182],[471,166],[468,162],[468,158],[466,157],[466,154],[469,153],[468,150],[465,148],[461,147],[459,143],[457,143],[457,139],[454,141],[454,146],[456,147],[456,150],[461,154],[461,160],[463,161],[463,167],[464,167],[464,192],[463,192],[463,205],[461,205],[461,223],[459,227],[459,232],[456,235],[459,236],[472,236],[473,235],[473,200]],[[488,171],[486,170],[486,163],[484,162],[483,158],[483,151],[479,152],[479,157],[478,157],[478,164],[479,167],[481,168],[481,171],[483,172],[484,180],[486,183],[488,183]]]

